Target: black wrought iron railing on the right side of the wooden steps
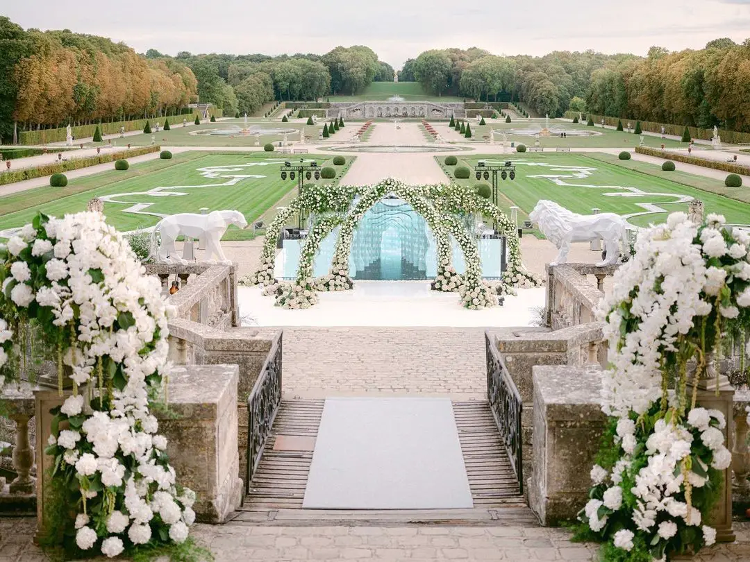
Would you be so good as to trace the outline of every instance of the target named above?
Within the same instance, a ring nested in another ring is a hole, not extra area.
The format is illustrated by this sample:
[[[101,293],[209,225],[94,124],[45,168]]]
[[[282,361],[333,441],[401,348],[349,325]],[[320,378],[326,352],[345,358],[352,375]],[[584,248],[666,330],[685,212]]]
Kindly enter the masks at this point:
[[[521,450],[520,414],[523,402],[499,351],[488,333],[484,333],[487,348],[487,402],[513,470],[518,478],[518,493],[523,494],[523,455]]]

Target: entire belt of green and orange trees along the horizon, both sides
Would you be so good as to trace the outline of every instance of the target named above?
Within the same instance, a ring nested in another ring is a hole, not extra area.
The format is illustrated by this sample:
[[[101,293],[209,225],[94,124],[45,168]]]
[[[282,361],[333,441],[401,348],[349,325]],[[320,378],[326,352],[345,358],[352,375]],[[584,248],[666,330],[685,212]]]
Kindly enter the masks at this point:
[[[394,69],[367,46],[324,55],[229,55],[149,49],[68,30],[25,31],[0,16],[0,142],[13,127],[36,129],[171,115],[189,102],[225,115],[272,100],[359,94]],[[572,109],[644,121],[750,130],[750,40],[713,40],[700,50],[652,47],[646,57],[555,51],[498,56],[432,49],[399,70],[431,94],[518,101],[552,117]]]

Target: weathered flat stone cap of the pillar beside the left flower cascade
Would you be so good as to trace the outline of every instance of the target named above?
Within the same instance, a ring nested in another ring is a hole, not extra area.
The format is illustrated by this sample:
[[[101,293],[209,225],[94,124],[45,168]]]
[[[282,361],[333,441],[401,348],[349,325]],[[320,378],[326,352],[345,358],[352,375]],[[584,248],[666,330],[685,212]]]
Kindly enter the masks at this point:
[[[221,399],[237,386],[238,379],[237,365],[175,367],[169,373],[167,408],[173,407],[180,417],[191,420],[215,420]],[[156,417],[169,419],[169,413],[160,411]]]

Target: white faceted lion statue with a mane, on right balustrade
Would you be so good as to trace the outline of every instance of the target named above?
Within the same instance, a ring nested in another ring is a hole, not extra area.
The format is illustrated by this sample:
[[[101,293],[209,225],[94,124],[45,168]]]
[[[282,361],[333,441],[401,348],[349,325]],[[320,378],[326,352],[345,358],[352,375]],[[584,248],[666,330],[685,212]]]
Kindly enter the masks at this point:
[[[606,258],[598,266],[616,264],[619,258],[619,241],[627,247],[627,223],[615,213],[577,214],[553,201],[542,199],[529,214],[539,230],[552,242],[559,253],[550,265],[564,264],[568,259],[571,242],[588,242],[602,238]]]

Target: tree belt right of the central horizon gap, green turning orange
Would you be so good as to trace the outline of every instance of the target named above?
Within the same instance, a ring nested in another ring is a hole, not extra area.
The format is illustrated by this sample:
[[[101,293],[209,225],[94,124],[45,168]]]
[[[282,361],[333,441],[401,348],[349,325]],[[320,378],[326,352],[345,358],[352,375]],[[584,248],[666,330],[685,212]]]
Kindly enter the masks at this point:
[[[750,40],[648,55],[550,52],[496,56],[482,49],[425,51],[399,72],[432,94],[522,101],[541,115],[567,109],[644,121],[750,131]]]

